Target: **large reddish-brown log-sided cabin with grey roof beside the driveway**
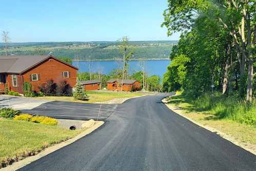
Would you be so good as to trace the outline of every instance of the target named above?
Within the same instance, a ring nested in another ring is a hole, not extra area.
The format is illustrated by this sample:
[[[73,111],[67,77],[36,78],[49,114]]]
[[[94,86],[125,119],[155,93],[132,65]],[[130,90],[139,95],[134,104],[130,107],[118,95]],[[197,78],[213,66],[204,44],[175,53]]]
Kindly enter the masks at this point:
[[[0,56],[0,93],[8,89],[23,94],[23,83],[31,82],[33,90],[47,80],[55,83],[66,80],[70,87],[76,84],[78,69],[69,63],[49,55],[38,56]]]

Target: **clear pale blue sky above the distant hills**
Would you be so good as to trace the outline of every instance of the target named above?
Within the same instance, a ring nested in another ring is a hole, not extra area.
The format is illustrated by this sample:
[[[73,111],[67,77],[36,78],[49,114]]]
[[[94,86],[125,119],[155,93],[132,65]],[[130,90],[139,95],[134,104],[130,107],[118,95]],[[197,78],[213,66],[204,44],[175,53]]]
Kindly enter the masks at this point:
[[[167,0],[2,1],[0,32],[11,42],[179,40],[167,36]]]

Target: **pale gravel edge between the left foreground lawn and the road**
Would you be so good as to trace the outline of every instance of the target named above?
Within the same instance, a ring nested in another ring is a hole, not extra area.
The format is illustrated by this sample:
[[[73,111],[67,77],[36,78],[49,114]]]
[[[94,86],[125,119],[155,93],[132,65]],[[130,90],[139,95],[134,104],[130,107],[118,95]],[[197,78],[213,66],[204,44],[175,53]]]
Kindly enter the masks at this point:
[[[104,122],[103,121],[98,121],[97,123],[95,123],[92,127],[90,127],[89,129],[83,131],[82,133],[78,134],[77,136],[71,138],[71,139],[68,139],[66,141],[63,141],[61,143],[58,143],[58,144],[54,144],[52,146],[49,146],[47,148],[45,148],[43,151],[41,151],[40,153],[38,153],[37,155],[34,155],[34,156],[29,156],[23,160],[20,160],[20,161],[17,161],[17,162],[14,162],[12,163],[11,165],[8,165],[6,167],[3,167],[3,168],[0,168],[0,170],[4,171],[4,170],[17,170],[21,167],[24,167],[25,165],[27,164],[30,164],[32,163],[33,161],[35,160],[38,160],[52,152],[55,152],[57,149],[60,149],[66,145],[69,145],[73,142],[75,142],[76,140],[90,134],[91,132],[93,132],[94,130],[96,130],[98,127],[100,127],[101,125],[103,125]]]

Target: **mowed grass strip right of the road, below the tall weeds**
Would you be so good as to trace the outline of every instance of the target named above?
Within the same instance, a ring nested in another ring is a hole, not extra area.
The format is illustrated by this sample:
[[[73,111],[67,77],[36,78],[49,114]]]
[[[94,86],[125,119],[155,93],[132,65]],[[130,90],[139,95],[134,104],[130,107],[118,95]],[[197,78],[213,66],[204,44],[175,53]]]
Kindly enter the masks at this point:
[[[203,125],[208,125],[227,135],[233,136],[242,142],[256,144],[256,126],[246,123],[239,123],[231,118],[218,118],[214,110],[206,111],[196,108],[186,97],[182,95],[172,96],[168,103],[182,109],[185,116]]]

